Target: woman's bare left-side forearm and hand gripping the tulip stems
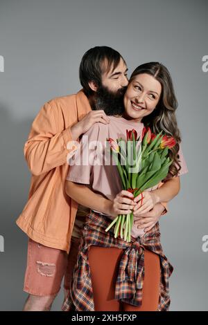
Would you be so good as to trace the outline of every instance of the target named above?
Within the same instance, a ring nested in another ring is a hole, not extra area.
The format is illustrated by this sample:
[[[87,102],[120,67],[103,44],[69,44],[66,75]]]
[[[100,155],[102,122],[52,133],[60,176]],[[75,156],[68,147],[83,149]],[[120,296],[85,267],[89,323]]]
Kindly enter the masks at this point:
[[[130,200],[132,194],[128,191],[121,191],[116,195],[114,201],[111,201],[104,198],[101,194],[94,193],[86,185],[73,183],[71,180],[66,180],[65,191],[77,203],[89,207],[92,210],[108,214],[113,217],[112,219],[118,214],[132,212],[130,209],[134,206],[134,203]],[[121,193],[129,198],[121,198]]]

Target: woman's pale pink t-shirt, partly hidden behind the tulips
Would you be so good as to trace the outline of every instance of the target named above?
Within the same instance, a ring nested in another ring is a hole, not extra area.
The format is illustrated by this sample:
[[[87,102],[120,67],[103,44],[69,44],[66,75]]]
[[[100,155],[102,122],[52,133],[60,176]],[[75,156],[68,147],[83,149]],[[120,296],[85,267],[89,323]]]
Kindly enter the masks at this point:
[[[84,134],[85,138],[83,136],[80,140],[80,148],[71,160],[69,160],[71,167],[69,168],[67,180],[89,185],[89,188],[94,192],[113,200],[116,194],[121,192],[122,183],[116,165],[110,163],[110,156],[104,155],[106,140],[107,138],[114,140],[123,138],[125,140],[126,129],[135,129],[137,131],[137,138],[140,136],[139,142],[141,142],[141,133],[144,124],[135,120],[125,120],[125,118],[117,118],[115,116],[109,116],[109,118],[109,124],[96,123]],[[178,176],[180,176],[187,173],[188,169],[181,146],[178,154],[180,155],[180,165],[182,167],[178,173]],[[105,158],[107,157],[107,160],[105,160],[104,156]],[[109,165],[106,165],[106,162]],[[146,191],[152,191],[153,189],[157,189],[157,187],[158,185],[155,185],[146,189]],[[112,216],[109,217],[110,219],[114,219]],[[144,230],[137,229],[137,233],[132,234],[132,236],[141,236],[142,234],[144,234]]]

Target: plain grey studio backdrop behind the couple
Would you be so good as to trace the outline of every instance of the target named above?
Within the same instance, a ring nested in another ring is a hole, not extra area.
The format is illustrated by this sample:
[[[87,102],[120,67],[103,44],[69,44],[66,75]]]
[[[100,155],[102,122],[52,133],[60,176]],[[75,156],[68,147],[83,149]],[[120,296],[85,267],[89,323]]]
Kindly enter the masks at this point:
[[[21,310],[27,297],[27,237],[15,224],[31,180],[24,142],[44,102],[80,89],[80,59],[96,45],[119,50],[130,73],[156,60],[171,71],[189,173],[160,221],[170,310],[208,310],[207,15],[206,0],[0,1],[0,310]]]

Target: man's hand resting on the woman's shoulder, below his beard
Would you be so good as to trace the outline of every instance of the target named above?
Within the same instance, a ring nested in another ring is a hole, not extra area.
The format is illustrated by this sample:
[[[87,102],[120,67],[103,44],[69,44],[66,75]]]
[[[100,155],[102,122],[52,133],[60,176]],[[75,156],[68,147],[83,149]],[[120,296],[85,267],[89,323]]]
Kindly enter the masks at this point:
[[[110,118],[105,114],[103,109],[89,111],[82,120],[71,127],[73,140],[77,140],[81,134],[87,132],[96,122],[101,122],[103,124],[108,124],[110,122]]]

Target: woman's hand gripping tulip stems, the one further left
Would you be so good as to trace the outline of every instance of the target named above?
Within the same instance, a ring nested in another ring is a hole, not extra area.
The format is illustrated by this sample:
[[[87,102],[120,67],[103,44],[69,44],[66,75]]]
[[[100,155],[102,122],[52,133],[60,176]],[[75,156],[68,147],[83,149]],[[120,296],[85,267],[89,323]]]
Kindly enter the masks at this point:
[[[136,202],[132,201],[132,198],[134,198],[133,194],[124,189],[119,192],[119,194],[114,198],[114,201],[111,201],[110,215],[117,216],[118,214],[131,213],[133,207],[137,205]]]

